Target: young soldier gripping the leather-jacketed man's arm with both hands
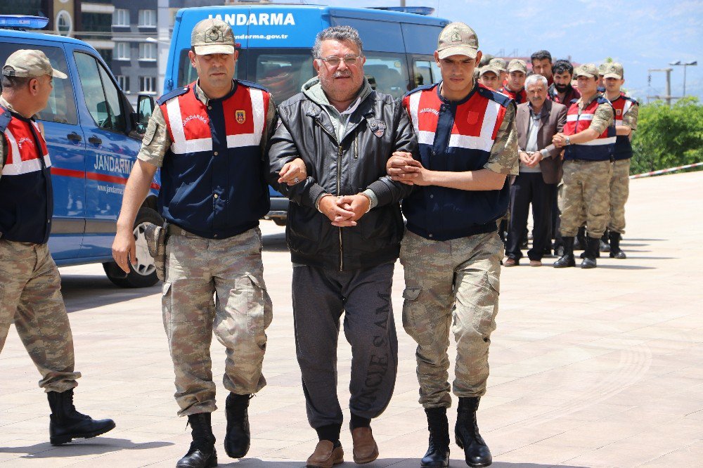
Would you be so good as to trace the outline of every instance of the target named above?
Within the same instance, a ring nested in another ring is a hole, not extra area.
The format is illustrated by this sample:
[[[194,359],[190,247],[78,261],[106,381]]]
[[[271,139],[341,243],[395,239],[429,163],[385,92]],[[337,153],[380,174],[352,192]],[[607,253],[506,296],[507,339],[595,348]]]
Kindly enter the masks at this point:
[[[496,220],[508,209],[517,175],[515,102],[472,80],[478,39],[453,22],[434,58],[443,81],[408,93],[404,105],[420,143],[420,160],[393,157],[394,180],[418,186],[403,202],[403,325],[418,343],[420,403],[430,429],[427,467],[449,464],[449,332],[456,339],[459,398],[456,441],[471,467],[491,464],[476,410],[486,392],[491,332],[496,328],[503,243]],[[451,77],[451,79],[450,79]]]

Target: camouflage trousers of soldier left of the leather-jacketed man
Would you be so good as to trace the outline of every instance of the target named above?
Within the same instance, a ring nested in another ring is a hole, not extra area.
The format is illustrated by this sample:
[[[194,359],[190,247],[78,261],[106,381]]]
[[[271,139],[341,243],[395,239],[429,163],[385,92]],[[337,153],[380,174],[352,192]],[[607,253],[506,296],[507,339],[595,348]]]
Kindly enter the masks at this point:
[[[217,409],[213,332],[226,349],[225,388],[245,395],[266,385],[262,363],[272,311],[261,252],[259,228],[221,240],[186,232],[167,239],[162,308],[180,416]]]

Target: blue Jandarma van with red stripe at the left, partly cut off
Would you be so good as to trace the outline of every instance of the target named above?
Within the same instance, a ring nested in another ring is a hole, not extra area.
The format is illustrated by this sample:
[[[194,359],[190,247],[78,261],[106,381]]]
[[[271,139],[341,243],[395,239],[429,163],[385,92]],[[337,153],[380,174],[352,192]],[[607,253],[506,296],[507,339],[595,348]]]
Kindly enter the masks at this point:
[[[124,184],[148,116],[139,122],[112,72],[89,44],[18,30],[40,29],[46,22],[39,17],[0,17],[0,66],[14,51],[34,48],[68,75],[53,80],[49,105],[37,115],[51,157],[51,256],[58,266],[101,263],[108,278],[120,286],[153,285],[158,279],[143,228],[148,222],[162,223],[155,211],[158,178],[134,227],[139,264],[125,275],[112,261],[111,248]]]

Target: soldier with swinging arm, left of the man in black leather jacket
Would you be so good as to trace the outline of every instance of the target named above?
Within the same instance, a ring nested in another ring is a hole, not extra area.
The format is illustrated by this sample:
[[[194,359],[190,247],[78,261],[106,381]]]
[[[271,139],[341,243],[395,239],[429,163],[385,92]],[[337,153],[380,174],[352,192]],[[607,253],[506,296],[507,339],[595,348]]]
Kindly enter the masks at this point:
[[[112,252],[129,271],[136,212],[160,167],[159,209],[167,221],[163,320],[178,414],[188,416],[193,432],[191,448],[176,466],[210,467],[217,464],[212,333],[226,348],[224,447],[230,457],[249,450],[247,407],[266,384],[262,361],[271,299],[258,226],[269,211],[262,164],[276,108],[265,89],[233,79],[238,51],[225,22],[199,22],[191,45],[198,81],[157,100],[124,191]],[[281,171],[286,182],[305,177],[304,165],[294,166]]]

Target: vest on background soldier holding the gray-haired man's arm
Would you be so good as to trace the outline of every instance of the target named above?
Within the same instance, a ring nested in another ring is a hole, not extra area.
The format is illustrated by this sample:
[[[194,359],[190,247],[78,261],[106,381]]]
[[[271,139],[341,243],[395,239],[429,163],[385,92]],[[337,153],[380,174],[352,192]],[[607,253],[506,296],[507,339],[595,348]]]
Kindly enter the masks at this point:
[[[572,101],[573,102],[573,101]],[[573,102],[567,111],[567,123],[564,125],[565,135],[576,135],[588,129],[593,122],[595,110],[601,104],[610,105],[610,101],[602,96],[595,98],[583,110],[579,104]],[[608,161],[612,160],[615,145],[614,122],[603,131],[598,138],[588,143],[569,145],[564,152],[564,160]]]

